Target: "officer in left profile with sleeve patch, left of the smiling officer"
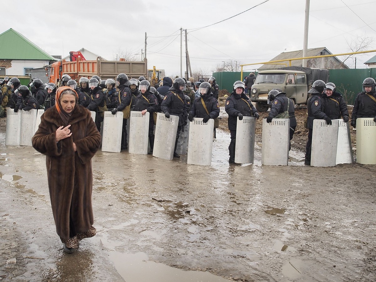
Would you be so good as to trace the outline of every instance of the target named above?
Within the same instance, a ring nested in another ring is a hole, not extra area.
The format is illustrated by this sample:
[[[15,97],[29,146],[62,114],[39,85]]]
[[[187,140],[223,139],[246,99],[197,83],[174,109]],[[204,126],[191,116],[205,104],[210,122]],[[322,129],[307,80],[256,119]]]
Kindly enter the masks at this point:
[[[332,124],[332,120],[324,113],[324,104],[321,99],[321,94],[326,87],[325,82],[322,80],[316,80],[312,84],[312,88],[308,93],[311,93],[311,97],[307,101],[307,127],[308,127],[308,140],[306,144],[305,164],[311,165],[311,149],[312,149],[312,131],[313,121],[315,119],[325,120],[326,124]]]

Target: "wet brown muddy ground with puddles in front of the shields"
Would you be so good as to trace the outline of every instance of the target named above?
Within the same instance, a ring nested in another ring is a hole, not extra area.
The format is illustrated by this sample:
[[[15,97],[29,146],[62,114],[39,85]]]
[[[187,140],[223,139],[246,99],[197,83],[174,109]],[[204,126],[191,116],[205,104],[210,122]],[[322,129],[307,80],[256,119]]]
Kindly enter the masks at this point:
[[[66,254],[45,158],[5,146],[2,118],[0,280],[375,281],[376,166],[303,165],[303,129],[288,166],[262,166],[261,141],[259,133],[247,165],[228,164],[226,130],[217,131],[209,167],[99,151],[97,235]]]

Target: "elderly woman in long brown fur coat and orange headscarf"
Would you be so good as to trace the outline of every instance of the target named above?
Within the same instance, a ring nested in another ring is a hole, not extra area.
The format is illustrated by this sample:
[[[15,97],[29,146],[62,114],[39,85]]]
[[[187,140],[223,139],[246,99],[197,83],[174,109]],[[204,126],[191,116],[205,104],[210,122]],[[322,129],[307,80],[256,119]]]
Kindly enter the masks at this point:
[[[88,109],[77,104],[70,87],[59,87],[56,104],[44,112],[32,138],[33,147],[46,155],[47,179],[56,232],[63,250],[72,253],[96,229],[91,205],[91,158],[101,136]]]

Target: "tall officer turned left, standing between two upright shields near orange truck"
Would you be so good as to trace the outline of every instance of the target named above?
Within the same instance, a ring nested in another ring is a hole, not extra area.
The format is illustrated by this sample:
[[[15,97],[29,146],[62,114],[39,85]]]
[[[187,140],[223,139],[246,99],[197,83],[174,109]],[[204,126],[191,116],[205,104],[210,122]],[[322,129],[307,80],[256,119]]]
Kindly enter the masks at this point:
[[[113,115],[118,111],[124,111],[127,106],[130,106],[132,103],[132,92],[130,91],[130,82],[128,76],[125,73],[120,73],[116,77],[116,81],[119,82],[119,97],[116,103],[116,108],[111,111]],[[127,119],[129,117],[123,116],[123,131],[121,135],[121,149],[128,149],[127,142]]]

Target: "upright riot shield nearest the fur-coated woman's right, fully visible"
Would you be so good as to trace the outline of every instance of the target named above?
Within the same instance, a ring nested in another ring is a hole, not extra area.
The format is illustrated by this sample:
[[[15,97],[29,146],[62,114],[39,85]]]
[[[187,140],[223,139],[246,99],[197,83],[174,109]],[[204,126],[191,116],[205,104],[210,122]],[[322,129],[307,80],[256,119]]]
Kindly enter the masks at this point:
[[[123,126],[123,112],[117,112],[115,115],[111,112],[105,112],[103,119],[102,151],[120,152],[121,147],[121,129]]]

